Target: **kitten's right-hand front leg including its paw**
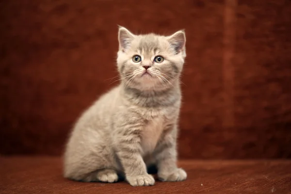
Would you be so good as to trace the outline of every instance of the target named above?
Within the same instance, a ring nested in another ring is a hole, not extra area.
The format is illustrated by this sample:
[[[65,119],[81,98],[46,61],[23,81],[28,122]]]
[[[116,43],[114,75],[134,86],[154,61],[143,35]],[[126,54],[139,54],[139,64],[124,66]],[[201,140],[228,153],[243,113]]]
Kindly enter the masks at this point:
[[[158,178],[162,181],[182,181],[187,178],[186,172],[177,167],[177,127],[165,130],[159,145],[154,151],[157,160]]]

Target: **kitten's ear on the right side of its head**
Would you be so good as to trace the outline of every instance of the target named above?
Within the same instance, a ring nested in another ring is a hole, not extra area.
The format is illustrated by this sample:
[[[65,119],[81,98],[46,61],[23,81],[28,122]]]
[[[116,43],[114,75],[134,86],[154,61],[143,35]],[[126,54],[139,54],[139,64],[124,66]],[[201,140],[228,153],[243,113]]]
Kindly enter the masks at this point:
[[[171,46],[175,49],[176,53],[181,52],[185,48],[186,36],[184,30],[175,32],[174,34],[168,36],[167,39]]]

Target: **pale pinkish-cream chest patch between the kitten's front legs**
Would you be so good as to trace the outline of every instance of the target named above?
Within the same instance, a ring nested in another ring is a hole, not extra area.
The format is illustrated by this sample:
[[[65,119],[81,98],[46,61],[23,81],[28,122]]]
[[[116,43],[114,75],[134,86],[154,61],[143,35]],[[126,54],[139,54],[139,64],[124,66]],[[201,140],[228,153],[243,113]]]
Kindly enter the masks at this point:
[[[142,142],[144,154],[151,153],[163,132],[165,119],[162,116],[149,120],[142,131]]]

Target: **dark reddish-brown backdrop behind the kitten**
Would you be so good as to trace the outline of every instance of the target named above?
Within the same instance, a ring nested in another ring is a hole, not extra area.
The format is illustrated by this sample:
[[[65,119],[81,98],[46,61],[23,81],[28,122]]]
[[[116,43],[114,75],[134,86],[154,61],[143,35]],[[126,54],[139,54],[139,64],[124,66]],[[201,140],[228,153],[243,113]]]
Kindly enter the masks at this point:
[[[117,24],[186,30],[181,158],[291,158],[290,0],[0,1],[0,154],[63,152],[117,84]]]

